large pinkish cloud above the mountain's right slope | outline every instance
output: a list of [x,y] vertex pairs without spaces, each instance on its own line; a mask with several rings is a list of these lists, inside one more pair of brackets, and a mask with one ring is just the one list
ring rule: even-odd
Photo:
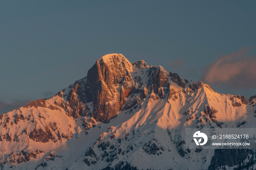
[[249,47],[219,56],[217,61],[204,67],[206,83],[226,85],[230,88],[256,87],[256,56],[246,56]]

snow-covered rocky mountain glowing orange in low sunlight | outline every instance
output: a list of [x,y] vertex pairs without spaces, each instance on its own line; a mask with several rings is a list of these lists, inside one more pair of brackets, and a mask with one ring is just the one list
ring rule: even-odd
[[255,127],[255,98],[108,54],[55,96],[0,115],[0,167],[235,169],[254,151],[189,150],[184,131]]

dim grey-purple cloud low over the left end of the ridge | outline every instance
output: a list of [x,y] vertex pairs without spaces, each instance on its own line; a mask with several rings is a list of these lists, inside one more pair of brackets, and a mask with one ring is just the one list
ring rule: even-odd
[[4,101],[0,100],[0,114],[10,112],[10,111],[12,111],[16,108],[22,107],[30,102],[31,102],[30,99],[19,100],[19,101],[15,101],[13,103],[5,103]]

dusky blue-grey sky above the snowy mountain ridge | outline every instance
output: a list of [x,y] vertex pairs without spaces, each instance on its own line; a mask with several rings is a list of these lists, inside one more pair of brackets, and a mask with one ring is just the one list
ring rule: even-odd
[[233,0],[0,1],[0,113],[53,96],[109,53],[249,98],[256,94],[255,6]]

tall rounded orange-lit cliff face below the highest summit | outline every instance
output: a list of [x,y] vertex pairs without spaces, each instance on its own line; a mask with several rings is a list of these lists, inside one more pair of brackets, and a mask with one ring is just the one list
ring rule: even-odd
[[117,115],[134,87],[132,64],[121,54],[105,55],[88,71],[93,117],[106,122]]

